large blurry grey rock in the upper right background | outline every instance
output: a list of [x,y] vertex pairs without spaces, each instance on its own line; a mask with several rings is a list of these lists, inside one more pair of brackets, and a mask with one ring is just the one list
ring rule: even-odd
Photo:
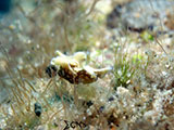
[[109,28],[123,26],[134,31],[147,28],[158,31],[174,30],[169,24],[173,12],[172,0],[133,0],[116,5],[108,15],[107,25]]

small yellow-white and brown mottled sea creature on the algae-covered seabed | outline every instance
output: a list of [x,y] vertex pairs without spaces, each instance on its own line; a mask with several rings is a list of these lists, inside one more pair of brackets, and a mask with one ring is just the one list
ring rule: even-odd
[[83,63],[87,58],[85,52],[76,52],[71,56],[67,56],[60,51],[57,51],[55,53],[58,56],[53,57],[50,64],[57,67],[61,67],[61,72],[64,69],[66,75],[61,74],[61,76],[64,78],[72,77],[70,75],[73,75],[74,78],[80,77],[84,82],[92,82],[97,80],[98,77],[102,78],[108,72],[112,70],[111,67],[96,69],[88,65],[84,65]]

